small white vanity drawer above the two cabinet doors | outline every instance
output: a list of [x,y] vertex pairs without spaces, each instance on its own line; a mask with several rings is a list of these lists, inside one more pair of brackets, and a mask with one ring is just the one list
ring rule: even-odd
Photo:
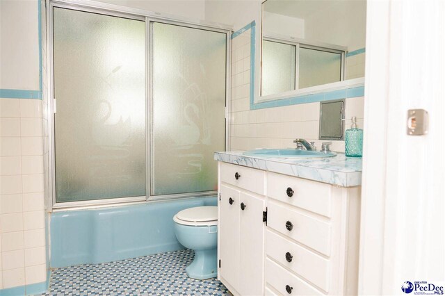
[[[230,163],[220,163],[220,180],[249,190],[259,195],[264,195],[264,176],[262,170],[232,165]],[[238,179],[236,179],[238,178]]]

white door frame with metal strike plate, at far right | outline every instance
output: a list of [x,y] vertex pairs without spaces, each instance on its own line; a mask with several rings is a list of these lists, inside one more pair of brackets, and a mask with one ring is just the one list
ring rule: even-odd
[[[444,15],[443,0],[367,2],[359,295],[445,285]],[[428,134],[407,135],[418,108]]]

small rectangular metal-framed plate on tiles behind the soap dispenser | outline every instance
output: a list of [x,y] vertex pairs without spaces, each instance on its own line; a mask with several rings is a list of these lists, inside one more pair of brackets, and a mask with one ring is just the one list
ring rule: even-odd
[[344,99],[320,103],[319,140],[343,140],[344,108]]

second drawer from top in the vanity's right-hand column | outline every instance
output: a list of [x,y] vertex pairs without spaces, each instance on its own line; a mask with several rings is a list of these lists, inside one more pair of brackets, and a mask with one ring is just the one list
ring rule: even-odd
[[268,227],[301,242],[303,245],[330,256],[330,223],[271,201],[268,204],[267,224]]

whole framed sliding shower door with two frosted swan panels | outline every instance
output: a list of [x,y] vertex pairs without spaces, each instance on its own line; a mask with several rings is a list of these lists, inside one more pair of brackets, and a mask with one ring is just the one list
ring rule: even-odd
[[51,1],[53,208],[216,195],[230,33]]

